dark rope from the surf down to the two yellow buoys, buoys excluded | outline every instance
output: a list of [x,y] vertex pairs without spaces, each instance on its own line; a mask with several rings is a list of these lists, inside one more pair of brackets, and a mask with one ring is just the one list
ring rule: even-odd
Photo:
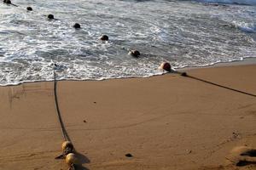
[[62,132],[63,139],[65,141],[70,141],[70,139],[68,137],[68,134],[67,134],[67,130],[66,130],[66,128],[64,126],[64,123],[62,121],[62,118],[61,118],[61,111],[60,111],[60,108],[59,108],[58,97],[57,97],[57,80],[56,80],[55,71],[54,71],[54,94],[55,94],[55,108],[56,108],[56,112],[57,112],[59,122],[61,124],[61,132]]

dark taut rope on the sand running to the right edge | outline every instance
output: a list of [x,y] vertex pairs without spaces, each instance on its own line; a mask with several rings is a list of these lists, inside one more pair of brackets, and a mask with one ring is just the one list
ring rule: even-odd
[[218,86],[219,88],[225,88],[225,89],[228,89],[228,90],[231,90],[231,91],[240,93],[240,94],[246,94],[246,95],[253,96],[254,98],[256,98],[256,95],[255,95],[255,94],[249,94],[249,93],[247,93],[247,92],[244,92],[244,91],[241,91],[241,90],[237,90],[237,89],[235,89],[235,88],[229,88],[229,87],[226,87],[226,86],[223,86],[223,85],[214,83],[214,82],[209,82],[209,81],[207,81],[207,80],[203,80],[203,79],[198,78],[198,77],[189,76],[186,72],[178,72],[178,71],[175,71],[175,72],[178,73],[178,74],[180,74],[180,75],[183,76],[183,77],[189,77],[189,78],[195,79],[195,80],[197,80],[197,81],[206,82],[206,83],[208,83],[208,84],[212,84],[212,85],[214,85],[214,86]]

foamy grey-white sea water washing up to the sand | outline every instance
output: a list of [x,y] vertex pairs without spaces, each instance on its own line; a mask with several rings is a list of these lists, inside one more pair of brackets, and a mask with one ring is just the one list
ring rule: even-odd
[[102,80],[163,74],[162,61],[182,68],[256,57],[256,0],[12,3],[0,3],[0,85],[52,80],[54,64],[58,79]]

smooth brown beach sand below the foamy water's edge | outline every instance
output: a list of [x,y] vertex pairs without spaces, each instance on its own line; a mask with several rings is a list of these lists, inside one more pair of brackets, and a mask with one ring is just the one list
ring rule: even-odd
[[[187,71],[256,94],[256,65]],[[256,98],[177,74],[58,82],[80,169],[256,169],[235,167],[230,150],[256,148]],[[53,82],[0,88],[0,169],[67,169]],[[132,157],[126,157],[130,153]]]

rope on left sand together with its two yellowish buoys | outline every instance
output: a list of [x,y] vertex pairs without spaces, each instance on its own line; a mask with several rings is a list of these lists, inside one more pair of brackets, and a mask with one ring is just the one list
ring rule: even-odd
[[68,137],[66,128],[64,126],[64,123],[62,121],[61,117],[61,111],[58,104],[58,98],[57,98],[57,80],[56,80],[56,73],[54,70],[54,96],[55,96],[55,109],[58,116],[58,120],[61,124],[61,133],[64,139],[64,142],[61,144],[62,153],[60,156],[56,156],[55,159],[65,159],[67,165],[69,166],[68,170],[75,170],[75,165],[79,164],[79,159],[77,158],[75,154],[75,149],[73,147],[73,144],[71,140]]

